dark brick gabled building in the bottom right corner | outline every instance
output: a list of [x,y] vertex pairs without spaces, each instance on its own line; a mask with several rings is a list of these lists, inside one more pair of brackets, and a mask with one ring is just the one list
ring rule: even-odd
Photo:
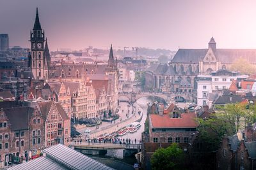
[[[253,126],[244,133],[225,136],[216,153],[216,169],[256,169],[256,141]],[[243,138],[244,137],[244,138]]]

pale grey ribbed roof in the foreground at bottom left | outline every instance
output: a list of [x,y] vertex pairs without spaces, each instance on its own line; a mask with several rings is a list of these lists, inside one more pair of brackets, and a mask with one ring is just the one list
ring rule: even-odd
[[64,145],[55,145],[46,148],[44,153],[51,160],[55,160],[56,164],[63,164],[64,167],[70,169],[112,169],[96,160],[93,160],[80,152],[76,152]]

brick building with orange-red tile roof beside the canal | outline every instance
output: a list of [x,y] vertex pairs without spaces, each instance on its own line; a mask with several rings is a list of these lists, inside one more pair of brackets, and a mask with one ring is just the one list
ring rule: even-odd
[[195,140],[197,127],[196,113],[181,113],[175,104],[170,104],[164,110],[163,104],[154,103],[149,106],[148,113],[148,123],[145,124],[141,146],[141,162],[144,169],[150,169],[152,154],[162,146],[179,143],[184,152],[189,151],[189,144]]

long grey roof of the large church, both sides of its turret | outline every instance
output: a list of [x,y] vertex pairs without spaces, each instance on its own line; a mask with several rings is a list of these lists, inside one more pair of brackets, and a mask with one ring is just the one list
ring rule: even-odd
[[[174,55],[173,63],[198,63],[202,61],[208,49],[179,49]],[[216,49],[216,59],[222,63],[232,63],[244,57],[250,63],[256,63],[256,49]]]

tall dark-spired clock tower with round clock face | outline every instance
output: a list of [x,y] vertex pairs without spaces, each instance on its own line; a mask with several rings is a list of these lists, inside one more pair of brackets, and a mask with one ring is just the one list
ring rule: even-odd
[[[42,31],[41,24],[38,17],[38,8],[36,8],[36,19],[33,30],[30,31],[30,41],[31,41],[31,71],[33,73],[35,80],[48,79],[48,68],[45,67],[45,62],[47,59],[44,55],[44,31]],[[46,64],[47,66],[47,64]],[[47,74],[45,74],[47,73]]]

